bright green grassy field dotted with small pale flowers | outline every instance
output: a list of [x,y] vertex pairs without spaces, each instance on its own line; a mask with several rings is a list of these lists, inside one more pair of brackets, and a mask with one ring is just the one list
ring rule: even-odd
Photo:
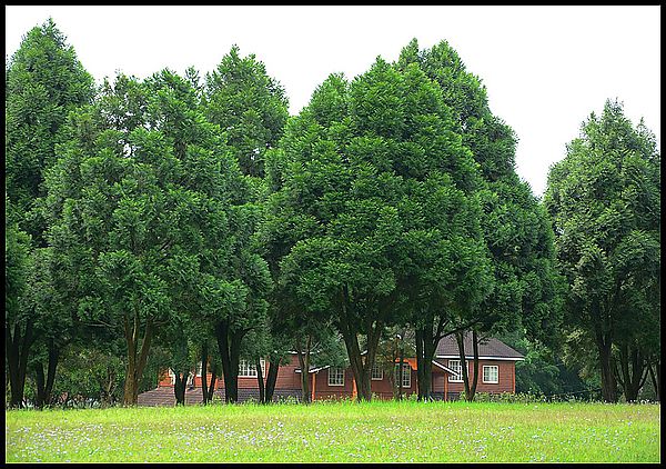
[[658,405],[10,410],[6,461],[660,462]]

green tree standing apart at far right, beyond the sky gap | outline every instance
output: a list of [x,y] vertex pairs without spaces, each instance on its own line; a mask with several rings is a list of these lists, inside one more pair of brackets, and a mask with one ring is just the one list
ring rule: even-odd
[[634,400],[659,331],[660,154],[654,134],[607,100],[551,168],[544,201],[571,286],[568,322],[596,345],[604,400],[618,399],[618,378]]

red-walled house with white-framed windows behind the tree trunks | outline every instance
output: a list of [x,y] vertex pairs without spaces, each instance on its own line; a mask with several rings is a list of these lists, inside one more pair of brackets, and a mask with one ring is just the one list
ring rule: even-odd
[[[470,379],[474,377],[473,348],[471,335],[465,338],[465,357],[467,360],[467,373]],[[517,361],[524,360],[522,353],[512,349],[504,342],[490,338],[478,343],[478,382],[477,392],[502,393],[515,392]],[[266,376],[266,362],[261,360],[262,376]],[[432,366],[432,395],[435,399],[455,400],[464,390],[462,366],[458,347],[453,336],[443,338],[437,345],[435,358]],[[287,365],[280,367],[275,382],[274,400],[294,398],[301,399],[301,367],[296,352],[291,353]],[[239,401],[259,398],[258,370],[253,363],[241,360],[239,366]],[[311,399],[340,399],[354,398],[356,396],[356,383],[353,379],[351,368],[343,367],[311,367],[307,371],[311,389]],[[408,396],[416,392],[416,359],[404,358],[402,373],[400,365],[395,365],[395,382],[402,379],[403,395]],[[209,373],[206,382],[210,383]],[[139,396],[140,406],[174,405],[173,393],[174,375],[171,370],[163,373],[158,388]],[[201,367],[199,372],[191,377],[191,382],[185,390],[185,403],[199,403],[202,401],[201,393],[202,377]],[[379,366],[372,370],[371,390],[376,398],[392,399],[393,386],[387,373]],[[218,377],[215,382],[215,397],[224,399],[224,380]]]

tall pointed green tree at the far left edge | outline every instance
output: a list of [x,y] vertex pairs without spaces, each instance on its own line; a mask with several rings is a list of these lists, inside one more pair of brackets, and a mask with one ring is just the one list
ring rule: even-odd
[[[63,297],[58,289],[58,277],[47,275],[54,271],[53,258],[49,252],[40,252],[47,247],[41,210],[46,193],[43,180],[46,171],[58,158],[57,146],[67,139],[63,128],[68,113],[91,101],[94,82],[77,59],[73,47],[49,19],[23,37],[6,64],[4,84],[6,194],[18,228],[30,234],[31,246],[36,249],[31,255],[33,275],[28,277],[24,302],[33,306],[26,306],[26,315],[33,327],[34,350],[44,350],[29,358],[37,372],[37,405],[41,406],[52,388],[61,349],[73,333],[71,311],[57,307],[58,300],[50,302],[51,298]],[[44,291],[53,295],[47,296]],[[32,348],[28,342],[22,343],[18,336],[10,342],[12,347],[21,348],[20,353],[30,357]],[[19,351],[11,353],[16,356]],[[16,372],[13,366],[10,368]]]

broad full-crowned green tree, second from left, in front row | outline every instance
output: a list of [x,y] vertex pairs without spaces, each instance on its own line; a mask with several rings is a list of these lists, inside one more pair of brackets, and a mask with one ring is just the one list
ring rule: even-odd
[[72,139],[49,178],[52,243],[91,265],[80,312],[125,337],[125,405],[137,402],[155,332],[199,298],[203,276],[196,291],[192,278],[210,239],[218,255],[230,247],[225,210],[240,173],[234,179],[219,128],[190,109],[191,88],[168,70],[105,82],[72,117]]

